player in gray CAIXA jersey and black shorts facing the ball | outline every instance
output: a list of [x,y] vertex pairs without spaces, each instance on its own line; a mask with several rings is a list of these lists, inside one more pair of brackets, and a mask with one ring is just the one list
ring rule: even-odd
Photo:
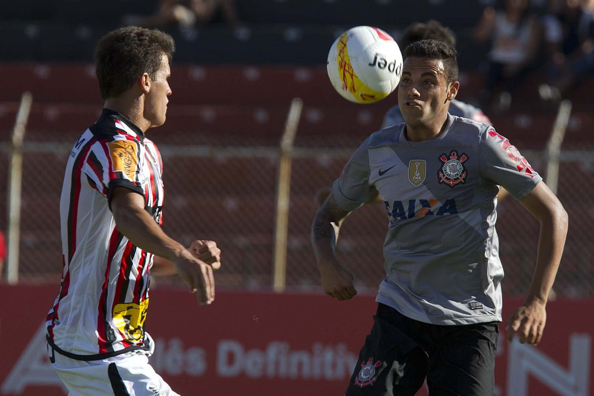
[[503,267],[498,185],[541,223],[536,268],[508,340],[538,344],[567,233],[567,213],[541,176],[492,126],[448,113],[460,87],[456,50],[437,40],[405,51],[405,123],[381,129],[345,165],[316,214],[312,243],[324,292],[355,296],[334,246],[342,221],[378,192],[386,204],[386,278],[346,395],[492,396]]

